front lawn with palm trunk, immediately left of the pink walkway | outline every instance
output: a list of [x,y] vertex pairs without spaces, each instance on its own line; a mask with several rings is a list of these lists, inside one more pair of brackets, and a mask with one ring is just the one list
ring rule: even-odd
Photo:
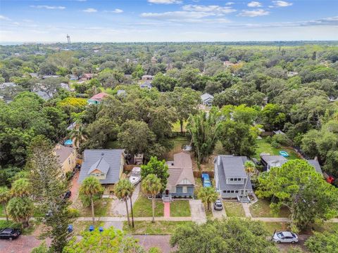
[[[151,200],[148,200],[144,195],[139,195],[139,198],[136,200],[132,206],[134,217],[151,217],[153,212],[151,209]],[[155,207],[155,216],[163,216],[163,202],[161,200],[156,200]]]

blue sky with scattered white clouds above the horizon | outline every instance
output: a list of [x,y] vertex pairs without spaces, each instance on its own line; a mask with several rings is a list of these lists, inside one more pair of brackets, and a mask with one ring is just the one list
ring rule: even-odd
[[0,41],[338,40],[338,0],[0,0]]

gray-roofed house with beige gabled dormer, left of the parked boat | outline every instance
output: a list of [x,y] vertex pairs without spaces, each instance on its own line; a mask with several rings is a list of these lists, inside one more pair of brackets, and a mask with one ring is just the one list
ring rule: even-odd
[[125,165],[122,149],[84,150],[79,183],[88,176],[96,176],[106,190],[111,192],[120,180]]

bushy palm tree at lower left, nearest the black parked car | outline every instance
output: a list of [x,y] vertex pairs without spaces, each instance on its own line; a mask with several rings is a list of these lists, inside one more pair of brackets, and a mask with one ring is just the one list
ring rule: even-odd
[[33,213],[33,203],[29,197],[13,197],[9,200],[8,214],[15,222],[23,223],[23,226],[30,226],[30,217]]

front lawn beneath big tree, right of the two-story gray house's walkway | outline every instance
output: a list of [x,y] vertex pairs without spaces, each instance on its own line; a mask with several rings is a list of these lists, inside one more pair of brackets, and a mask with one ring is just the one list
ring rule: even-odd
[[278,214],[274,214],[270,209],[270,201],[259,199],[258,202],[250,206],[250,212],[253,217],[289,217],[289,210],[286,207],[280,209]]

